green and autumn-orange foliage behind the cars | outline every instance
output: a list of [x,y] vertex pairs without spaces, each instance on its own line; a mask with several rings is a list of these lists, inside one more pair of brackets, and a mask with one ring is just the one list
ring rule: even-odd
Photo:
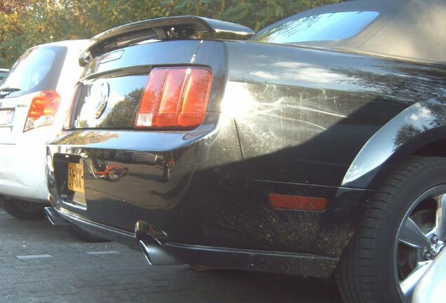
[[104,30],[149,18],[201,15],[255,31],[289,15],[342,0],[0,0],[0,67],[27,48],[89,39]]

